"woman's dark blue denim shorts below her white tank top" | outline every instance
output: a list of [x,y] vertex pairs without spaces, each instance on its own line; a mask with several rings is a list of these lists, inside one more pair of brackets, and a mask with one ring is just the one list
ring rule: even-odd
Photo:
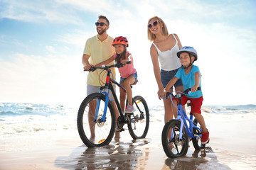
[[[178,72],[178,69],[174,69],[171,71],[165,71],[164,69],[161,69],[161,82],[164,86],[164,88],[167,86],[169,81],[174,78],[175,74]],[[178,79],[176,83],[174,84],[175,87],[177,86],[183,86],[181,79]],[[173,89],[173,87],[171,87]]]

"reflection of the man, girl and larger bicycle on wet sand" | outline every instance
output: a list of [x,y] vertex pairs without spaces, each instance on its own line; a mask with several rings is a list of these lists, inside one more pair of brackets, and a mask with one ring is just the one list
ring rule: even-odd
[[[146,165],[149,152],[142,151],[137,147],[146,145],[147,140],[137,140],[132,142],[110,143],[105,147],[85,147],[82,154],[70,155],[68,162],[55,162],[59,166],[67,169],[135,169],[137,166]],[[146,149],[145,149],[146,150]],[[72,159],[73,157],[73,159]],[[63,158],[62,158],[63,159]],[[70,162],[73,164],[71,167]],[[67,163],[67,166],[64,164]]]

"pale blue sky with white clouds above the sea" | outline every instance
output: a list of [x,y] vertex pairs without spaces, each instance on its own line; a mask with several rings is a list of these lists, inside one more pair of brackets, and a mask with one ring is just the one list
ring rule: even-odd
[[139,79],[133,94],[149,106],[163,103],[146,32],[153,16],[197,50],[203,105],[256,104],[255,8],[254,0],[0,0],[0,102],[80,105],[82,52],[103,15],[108,35],[127,37]]

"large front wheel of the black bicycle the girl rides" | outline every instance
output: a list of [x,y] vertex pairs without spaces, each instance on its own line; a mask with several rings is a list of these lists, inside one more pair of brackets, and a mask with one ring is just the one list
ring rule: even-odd
[[87,147],[108,145],[114,136],[115,114],[109,102],[105,111],[106,96],[95,93],[82,101],[78,111],[78,132]]

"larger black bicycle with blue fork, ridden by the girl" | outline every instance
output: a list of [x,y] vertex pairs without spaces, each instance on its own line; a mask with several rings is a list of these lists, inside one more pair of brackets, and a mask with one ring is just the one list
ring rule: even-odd
[[[131,62],[127,62],[129,64]],[[122,67],[124,64],[112,64],[104,67],[91,67],[89,71],[96,69],[107,71],[105,86],[100,87],[99,93],[88,95],[81,103],[78,111],[78,132],[82,142],[87,147],[102,147],[108,145],[114,136],[115,126],[123,131],[124,124],[127,124],[129,134],[134,140],[146,137],[149,130],[149,108],[142,96],[134,96],[132,103],[134,113],[123,113],[117,95],[114,92],[112,83],[117,84],[122,90],[125,89],[110,77],[112,67]],[[106,92],[105,92],[105,91]],[[110,102],[110,91],[114,96],[119,117],[114,112],[114,106]],[[93,137],[92,137],[93,136]],[[93,140],[92,140],[93,138]]]

